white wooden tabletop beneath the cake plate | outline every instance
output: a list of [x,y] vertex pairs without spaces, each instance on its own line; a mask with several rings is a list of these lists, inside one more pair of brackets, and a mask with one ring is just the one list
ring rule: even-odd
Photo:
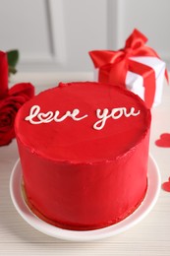
[[[17,82],[29,81],[36,92],[55,86],[58,81],[87,81],[92,74],[18,74]],[[152,110],[150,152],[156,160],[162,182],[170,176],[170,148],[154,145],[159,135],[170,133],[170,87],[165,85],[161,105]],[[9,191],[12,168],[18,160],[14,140],[9,146],[0,147],[0,256],[5,255],[170,255],[170,193],[160,191],[152,211],[140,224],[119,235],[92,242],[68,242],[41,233],[27,224],[16,211]]]

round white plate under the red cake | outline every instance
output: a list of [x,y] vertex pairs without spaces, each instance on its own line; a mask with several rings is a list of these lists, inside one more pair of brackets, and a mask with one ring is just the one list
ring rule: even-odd
[[89,231],[75,231],[56,227],[38,219],[28,208],[22,195],[22,167],[18,160],[13,168],[10,179],[11,198],[19,214],[35,229],[47,235],[70,241],[91,241],[106,238],[123,232],[135,224],[138,224],[150,212],[154,206],[160,190],[160,174],[158,166],[152,157],[148,160],[148,188],[141,206],[128,218],[118,224]]

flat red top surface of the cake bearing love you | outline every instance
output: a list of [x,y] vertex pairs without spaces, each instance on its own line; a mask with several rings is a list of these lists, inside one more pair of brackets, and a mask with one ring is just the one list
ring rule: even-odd
[[136,147],[150,126],[142,99],[117,86],[60,83],[19,110],[15,130],[29,151],[50,160],[113,160]]

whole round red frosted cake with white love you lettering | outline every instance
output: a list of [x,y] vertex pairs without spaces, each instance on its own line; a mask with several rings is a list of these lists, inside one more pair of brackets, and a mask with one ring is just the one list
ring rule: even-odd
[[150,111],[117,86],[60,83],[30,99],[15,129],[28,206],[62,228],[116,224],[147,189]]

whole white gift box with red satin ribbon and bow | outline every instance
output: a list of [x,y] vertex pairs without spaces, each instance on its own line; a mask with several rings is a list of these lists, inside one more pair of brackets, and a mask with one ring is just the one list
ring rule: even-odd
[[161,102],[164,77],[168,81],[168,73],[165,62],[145,45],[146,41],[145,35],[135,30],[124,48],[94,50],[89,55],[95,67],[95,81],[126,87],[151,108]]

